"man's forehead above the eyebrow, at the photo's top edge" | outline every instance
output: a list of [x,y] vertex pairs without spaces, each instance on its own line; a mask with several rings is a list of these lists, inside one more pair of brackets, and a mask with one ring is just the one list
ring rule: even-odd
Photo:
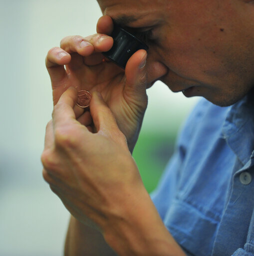
[[102,13],[118,23],[130,25],[142,18],[152,18],[165,11],[167,0],[97,0]]

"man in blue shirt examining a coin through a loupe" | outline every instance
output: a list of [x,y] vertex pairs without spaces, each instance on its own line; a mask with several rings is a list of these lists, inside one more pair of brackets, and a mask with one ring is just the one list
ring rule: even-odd
[[[98,2],[97,34],[65,37],[46,58],[54,110],[41,159],[72,214],[65,254],[254,255],[254,1]],[[100,53],[112,19],[149,45],[125,70]],[[158,79],[207,100],[152,201],[131,152]],[[79,89],[93,93],[90,112],[75,105]]]

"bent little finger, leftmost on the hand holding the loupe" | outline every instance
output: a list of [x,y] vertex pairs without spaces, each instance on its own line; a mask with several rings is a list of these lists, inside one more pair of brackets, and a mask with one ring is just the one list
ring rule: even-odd
[[59,47],[53,47],[48,51],[45,63],[52,83],[63,79],[66,75],[64,65],[70,59],[70,54]]

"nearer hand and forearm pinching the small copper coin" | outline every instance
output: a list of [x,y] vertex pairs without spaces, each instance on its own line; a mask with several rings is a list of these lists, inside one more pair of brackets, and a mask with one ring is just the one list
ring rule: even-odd
[[[55,105],[41,156],[44,179],[80,222],[71,224],[69,229],[66,246],[73,251],[69,255],[75,255],[76,249],[89,249],[82,239],[72,238],[73,233],[75,238],[80,233],[86,237],[88,229],[81,223],[89,220],[118,255],[185,255],[162,222],[126,138],[102,97],[97,93],[92,96],[92,133],[76,120],[76,94],[75,89],[67,89]],[[91,229],[88,231],[89,235],[94,234]],[[103,248],[103,239],[100,242],[99,247]]]

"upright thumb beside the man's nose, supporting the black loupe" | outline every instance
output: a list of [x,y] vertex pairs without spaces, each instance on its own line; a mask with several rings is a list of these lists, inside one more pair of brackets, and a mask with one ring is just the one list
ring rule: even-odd
[[146,96],[147,86],[147,52],[144,49],[136,51],[128,60],[125,68],[126,83],[125,90],[131,96]]

